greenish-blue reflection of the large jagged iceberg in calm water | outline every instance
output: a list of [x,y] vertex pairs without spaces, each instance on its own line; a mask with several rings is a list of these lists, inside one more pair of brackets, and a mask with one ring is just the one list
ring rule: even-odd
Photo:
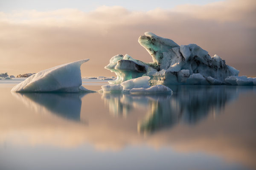
[[138,122],[138,132],[153,132],[178,122],[195,124],[209,113],[219,113],[240,91],[238,86],[171,86],[173,95],[102,94],[114,115],[126,116],[138,106],[148,107],[146,117]]

